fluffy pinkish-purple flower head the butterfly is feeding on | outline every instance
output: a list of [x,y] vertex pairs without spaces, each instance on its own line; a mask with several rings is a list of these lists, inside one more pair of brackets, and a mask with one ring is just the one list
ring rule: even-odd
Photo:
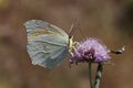
[[75,54],[70,63],[95,62],[101,63],[110,59],[109,50],[98,38],[88,38],[75,46]]

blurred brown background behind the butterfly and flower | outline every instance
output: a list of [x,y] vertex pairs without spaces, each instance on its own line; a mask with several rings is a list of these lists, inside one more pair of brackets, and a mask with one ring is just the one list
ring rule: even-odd
[[[74,40],[98,37],[110,50],[126,45],[105,65],[101,88],[133,88],[133,0],[0,0],[0,88],[90,88],[88,64],[69,58],[53,69],[31,65],[23,23],[45,20],[69,32],[79,23]],[[93,74],[95,65],[93,66]]]

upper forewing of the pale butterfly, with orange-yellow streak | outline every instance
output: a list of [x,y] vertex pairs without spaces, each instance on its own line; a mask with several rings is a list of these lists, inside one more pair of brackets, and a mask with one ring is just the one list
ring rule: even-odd
[[24,23],[24,26],[28,33],[33,33],[37,31],[45,33],[45,31],[47,32],[51,31],[52,33],[58,33],[64,37],[68,37],[68,34],[64,31],[62,31],[60,28],[42,20],[29,20]]

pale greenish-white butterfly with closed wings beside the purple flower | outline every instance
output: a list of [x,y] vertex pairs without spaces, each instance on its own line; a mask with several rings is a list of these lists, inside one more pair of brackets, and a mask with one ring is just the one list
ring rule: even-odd
[[47,68],[59,66],[74,47],[73,37],[45,21],[29,20],[24,26],[28,36],[27,50],[33,65]]

